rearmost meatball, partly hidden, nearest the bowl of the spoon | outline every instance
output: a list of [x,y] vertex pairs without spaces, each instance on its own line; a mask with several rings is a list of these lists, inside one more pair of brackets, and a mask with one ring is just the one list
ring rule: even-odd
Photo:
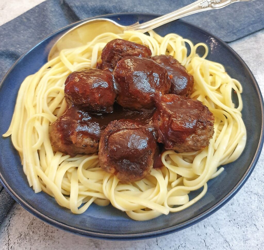
[[102,50],[102,63],[97,68],[113,71],[116,63],[128,56],[150,57],[151,50],[141,44],[122,39],[114,39],[107,43]]

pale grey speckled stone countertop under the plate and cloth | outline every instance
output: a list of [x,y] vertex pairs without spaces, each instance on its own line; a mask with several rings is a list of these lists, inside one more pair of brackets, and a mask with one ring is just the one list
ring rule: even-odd
[[[0,25],[44,0],[1,0]],[[242,57],[264,93],[264,30],[229,45]],[[262,44],[262,46],[260,46]],[[130,242],[73,235],[37,219],[15,204],[0,226],[0,249],[264,249],[264,151],[246,184],[207,219],[167,236]]]

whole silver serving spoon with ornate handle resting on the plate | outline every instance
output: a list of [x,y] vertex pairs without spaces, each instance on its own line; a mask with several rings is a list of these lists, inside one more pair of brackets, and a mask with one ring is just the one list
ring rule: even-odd
[[247,1],[252,0],[198,0],[166,15],[154,18],[142,24],[136,22],[129,26],[120,25],[107,18],[89,19],[68,30],[56,41],[50,50],[48,61],[58,56],[61,50],[85,45],[96,36],[105,32],[121,34],[124,33],[124,31],[138,31],[140,33],[145,33],[181,17],[206,10],[220,9],[235,2]]

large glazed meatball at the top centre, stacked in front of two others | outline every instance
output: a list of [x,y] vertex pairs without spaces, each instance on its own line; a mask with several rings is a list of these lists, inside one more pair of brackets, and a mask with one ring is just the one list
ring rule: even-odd
[[168,94],[171,83],[164,67],[151,59],[126,57],[114,70],[117,103],[131,110],[150,109],[156,95]]

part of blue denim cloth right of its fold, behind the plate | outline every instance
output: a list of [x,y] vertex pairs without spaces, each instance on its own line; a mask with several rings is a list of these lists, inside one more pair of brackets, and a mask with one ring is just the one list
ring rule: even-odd
[[[206,0],[207,2],[213,2]],[[121,12],[144,12],[164,15],[194,0],[64,0],[83,20],[88,17]],[[210,10],[181,18],[206,29],[224,41],[233,41],[264,28],[264,1],[234,3],[219,10]]]

